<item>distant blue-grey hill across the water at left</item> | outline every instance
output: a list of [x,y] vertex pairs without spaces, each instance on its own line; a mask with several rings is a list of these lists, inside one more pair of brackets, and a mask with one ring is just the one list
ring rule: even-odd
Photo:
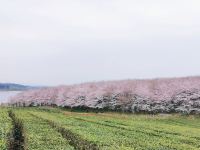
[[24,91],[28,89],[33,89],[34,87],[25,86],[20,84],[14,83],[0,83],[0,90],[1,91]]

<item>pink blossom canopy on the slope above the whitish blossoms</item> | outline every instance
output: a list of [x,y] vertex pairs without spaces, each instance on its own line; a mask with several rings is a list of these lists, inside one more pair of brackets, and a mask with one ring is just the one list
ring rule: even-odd
[[103,81],[29,90],[11,98],[10,102],[70,105],[76,103],[78,97],[84,96],[86,103],[92,104],[97,97],[119,93],[136,94],[155,101],[169,101],[179,92],[194,89],[200,89],[200,77]]

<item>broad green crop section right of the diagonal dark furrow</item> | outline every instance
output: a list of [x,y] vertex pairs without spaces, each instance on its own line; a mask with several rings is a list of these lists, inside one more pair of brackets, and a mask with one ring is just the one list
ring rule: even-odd
[[200,149],[200,119],[190,116],[30,111],[96,143],[100,149]]

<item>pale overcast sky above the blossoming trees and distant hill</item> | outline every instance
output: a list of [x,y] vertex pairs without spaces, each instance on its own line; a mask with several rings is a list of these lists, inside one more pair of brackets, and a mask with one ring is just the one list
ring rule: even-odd
[[0,0],[0,82],[200,75],[199,0]]

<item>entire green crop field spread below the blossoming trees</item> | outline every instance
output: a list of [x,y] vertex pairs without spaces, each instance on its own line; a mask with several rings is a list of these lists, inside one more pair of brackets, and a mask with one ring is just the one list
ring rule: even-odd
[[[199,150],[200,118],[180,115],[80,113],[15,108],[28,150]],[[12,120],[0,110],[0,149],[8,149]]]

